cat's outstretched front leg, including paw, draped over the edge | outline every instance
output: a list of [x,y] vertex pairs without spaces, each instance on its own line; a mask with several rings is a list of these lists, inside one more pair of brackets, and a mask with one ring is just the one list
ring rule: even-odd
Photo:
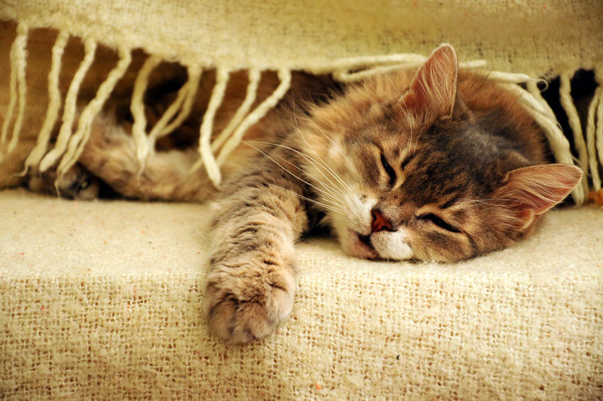
[[211,331],[236,344],[272,334],[291,312],[294,243],[308,224],[302,200],[289,192],[299,188],[267,185],[262,175],[243,177],[214,217],[204,310]]

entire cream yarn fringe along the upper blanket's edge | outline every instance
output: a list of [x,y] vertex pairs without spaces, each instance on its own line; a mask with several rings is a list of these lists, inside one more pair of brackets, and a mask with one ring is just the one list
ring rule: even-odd
[[[10,51],[11,75],[9,82],[9,104],[4,114],[4,122],[0,132],[0,150],[10,141],[6,147],[6,153],[16,148],[20,138],[23,118],[26,112],[26,66],[27,66],[27,40],[29,26],[26,23],[18,23],[16,38],[13,40]],[[59,31],[54,45],[52,46],[52,60],[48,72],[48,109],[45,113],[42,128],[38,134],[35,146],[31,149],[25,160],[23,173],[33,167],[38,167],[41,172],[57,165],[59,176],[77,163],[82,154],[89,136],[91,135],[92,123],[106,103],[114,90],[118,80],[123,77],[131,64],[131,49],[118,48],[118,62],[104,82],[99,84],[96,95],[92,101],[81,108],[77,130],[73,131],[75,120],[78,118],[77,96],[79,88],[94,61],[97,43],[92,38],[84,38],[84,57],[70,82],[65,96],[61,125],[54,146],[50,148],[52,129],[58,119],[62,106],[59,89],[60,71],[62,68],[62,55],[65,52],[70,33]],[[427,57],[417,54],[394,54],[377,55],[365,57],[351,57],[333,60],[325,65],[304,68],[306,72],[314,74],[331,74],[340,82],[354,82],[365,79],[372,75],[399,70],[402,68],[417,67],[425,62]],[[133,115],[132,136],[136,146],[136,157],[140,161],[140,172],[145,169],[145,161],[155,151],[155,143],[163,136],[174,131],[184,120],[187,119],[194,106],[196,94],[199,89],[201,72],[206,66],[188,65],[187,82],[177,92],[176,99],[167,107],[160,119],[150,131],[146,132],[147,119],[145,116],[144,97],[149,86],[150,74],[155,70],[162,58],[150,55],[138,71],[133,85],[131,97],[131,113]],[[474,60],[461,62],[461,68],[482,69],[486,65],[485,60]],[[258,96],[258,87],[262,77],[260,68],[248,69],[248,85],[245,99],[238,106],[235,114],[226,124],[223,130],[214,136],[214,119],[216,112],[222,104],[226,94],[226,87],[230,78],[231,70],[227,67],[216,67],[216,83],[211,93],[211,98],[205,111],[203,121],[199,127],[199,160],[192,170],[204,167],[211,182],[218,187],[221,183],[221,166],[228,160],[233,150],[237,148],[248,129],[260,121],[268,111],[275,107],[284,97],[291,86],[292,69],[282,67],[277,70],[280,83],[277,88],[262,101],[255,109],[252,106]],[[584,203],[589,197],[589,177],[592,180],[592,189],[602,189],[600,169],[603,164],[603,67],[595,68],[595,78],[599,87],[594,93],[592,102],[588,108],[587,121],[584,131],[580,123],[574,101],[571,97],[570,79],[574,71],[564,71],[560,75],[560,101],[568,115],[570,128],[572,128],[573,141],[577,151],[577,160],[572,158],[570,142],[563,135],[558,121],[538,89],[541,79],[534,79],[525,74],[511,74],[507,72],[489,71],[487,75],[494,82],[502,84],[509,91],[517,94],[519,101],[533,116],[533,119],[543,129],[555,160],[559,163],[576,163],[585,172],[583,180],[572,192],[576,204]],[[519,84],[525,84],[523,89]],[[11,124],[14,125],[11,131]],[[9,136],[9,131],[11,135]],[[213,139],[212,139],[213,138]],[[0,153],[0,161],[3,154]]]

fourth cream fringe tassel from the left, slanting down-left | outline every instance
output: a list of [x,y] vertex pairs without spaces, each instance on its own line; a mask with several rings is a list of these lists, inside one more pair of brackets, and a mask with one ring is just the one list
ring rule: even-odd
[[69,170],[70,167],[77,162],[79,155],[82,155],[84,146],[90,137],[92,121],[94,121],[96,114],[101,111],[106,99],[108,99],[111,95],[111,92],[113,92],[117,81],[123,77],[123,74],[126,73],[131,60],[132,55],[130,50],[127,48],[119,48],[119,61],[117,62],[116,67],[109,72],[109,75],[107,75],[105,81],[96,91],[96,97],[90,101],[90,103],[82,111],[82,114],[79,116],[77,131],[72,135],[69,146],[67,147],[67,152],[65,152],[65,155],[63,155],[59,163],[59,176],[65,174],[65,172],[67,172],[67,170]]

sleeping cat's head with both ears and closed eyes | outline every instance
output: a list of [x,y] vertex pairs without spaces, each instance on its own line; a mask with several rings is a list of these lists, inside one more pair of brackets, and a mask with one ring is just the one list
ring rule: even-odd
[[515,243],[577,185],[545,164],[517,99],[458,73],[443,45],[414,73],[382,75],[313,111],[301,147],[343,250],[360,258],[461,260]]

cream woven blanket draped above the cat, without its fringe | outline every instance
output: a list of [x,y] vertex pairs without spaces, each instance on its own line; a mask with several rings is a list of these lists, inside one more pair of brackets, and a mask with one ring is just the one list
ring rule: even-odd
[[0,18],[204,67],[316,70],[340,57],[419,53],[442,42],[494,70],[552,75],[601,65],[592,1],[4,0]]

